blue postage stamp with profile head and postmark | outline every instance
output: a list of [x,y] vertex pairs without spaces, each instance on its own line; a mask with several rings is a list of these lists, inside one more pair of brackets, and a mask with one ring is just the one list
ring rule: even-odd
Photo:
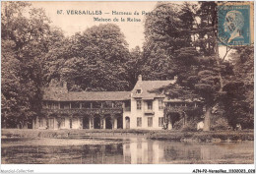
[[253,42],[253,12],[250,2],[223,3],[218,6],[219,44],[249,45]]

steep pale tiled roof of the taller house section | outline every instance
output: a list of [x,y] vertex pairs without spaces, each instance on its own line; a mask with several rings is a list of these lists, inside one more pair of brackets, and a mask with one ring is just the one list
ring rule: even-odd
[[[136,86],[132,90],[132,97],[141,97],[142,99],[154,99],[155,97],[165,97],[162,93],[153,92],[160,87],[167,87],[170,84],[174,84],[172,81],[138,81]],[[136,93],[137,89],[141,89],[141,93]]]

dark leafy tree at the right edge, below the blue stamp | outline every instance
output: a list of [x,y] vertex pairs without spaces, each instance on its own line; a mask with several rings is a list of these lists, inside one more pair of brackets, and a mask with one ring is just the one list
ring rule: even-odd
[[224,85],[224,114],[235,128],[253,128],[254,123],[254,52],[253,46],[234,48],[232,53],[233,76]]

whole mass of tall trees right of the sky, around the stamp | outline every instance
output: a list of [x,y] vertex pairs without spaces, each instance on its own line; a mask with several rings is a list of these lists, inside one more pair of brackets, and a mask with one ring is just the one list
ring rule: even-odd
[[[225,60],[226,54],[220,57],[216,2],[182,5],[159,3],[153,12],[158,11],[161,12],[159,16],[149,16],[145,23],[144,59],[147,57],[147,60],[144,72],[149,70],[148,77],[166,80],[178,75],[177,84],[180,87],[171,85],[165,91],[169,97],[200,98],[206,108],[205,131],[210,130],[212,111],[217,105],[225,105],[221,109],[224,109],[223,114],[230,124],[246,126],[249,121],[253,123],[253,72],[239,73],[242,66],[252,70],[253,61],[246,62],[245,58],[251,51],[237,50],[243,57],[239,60],[234,55],[231,55],[233,61]],[[163,67],[161,61],[164,62]],[[242,79],[246,82],[240,83]],[[239,87],[235,90],[236,93],[239,90],[238,95],[228,87],[230,81],[233,87]],[[250,103],[247,104],[250,109],[246,108],[245,100]]]

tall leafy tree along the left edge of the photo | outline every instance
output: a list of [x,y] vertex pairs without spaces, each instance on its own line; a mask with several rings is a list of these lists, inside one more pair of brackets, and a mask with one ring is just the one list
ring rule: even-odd
[[[9,127],[24,126],[40,110],[40,65],[49,20],[28,2],[4,2],[2,9],[2,121]],[[24,16],[26,10],[29,17]]]

